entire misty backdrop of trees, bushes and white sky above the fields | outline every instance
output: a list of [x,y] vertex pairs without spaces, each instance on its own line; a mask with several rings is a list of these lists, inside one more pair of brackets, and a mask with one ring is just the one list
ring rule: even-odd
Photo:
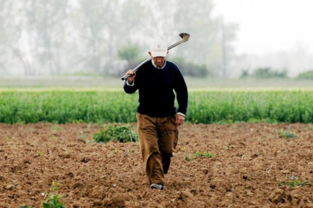
[[0,0],[0,76],[122,76],[162,38],[195,78],[313,70],[309,0]]

